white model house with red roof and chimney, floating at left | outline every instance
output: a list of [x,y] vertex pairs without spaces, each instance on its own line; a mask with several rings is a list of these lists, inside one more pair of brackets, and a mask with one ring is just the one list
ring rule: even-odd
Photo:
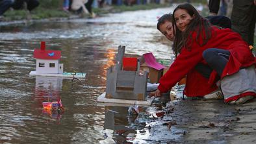
[[41,42],[40,49],[34,49],[36,58],[36,73],[63,73],[60,62],[61,51],[45,50],[45,42]]

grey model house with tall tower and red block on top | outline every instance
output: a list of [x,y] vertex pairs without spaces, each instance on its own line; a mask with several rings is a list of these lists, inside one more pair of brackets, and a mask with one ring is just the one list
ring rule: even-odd
[[145,101],[147,90],[147,73],[140,74],[137,58],[125,58],[125,47],[118,47],[116,66],[107,69],[108,99],[129,99]]

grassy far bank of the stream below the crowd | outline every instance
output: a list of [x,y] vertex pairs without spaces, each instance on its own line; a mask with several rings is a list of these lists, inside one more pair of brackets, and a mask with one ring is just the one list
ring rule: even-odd
[[[97,16],[108,13],[117,13],[124,11],[134,11],[134,10],[149,10],[153,8],[164,8],[169,7],[170,4],[156,4],[150,3],[147,5],[133,5],[133,6],[104,6],[103,8],[93,8],[93,12]],[[40,20],[40,19],[72,19],[72,18],[90,18],[89,15],[78,15],[75,12],[66,12],[61,10],[61,8],[47,8],[38,6],[31,13],[27,10],[8,10],[5,12],[4,17],[1,18],[2,22],[10,21],[25,21],[25,20]]]

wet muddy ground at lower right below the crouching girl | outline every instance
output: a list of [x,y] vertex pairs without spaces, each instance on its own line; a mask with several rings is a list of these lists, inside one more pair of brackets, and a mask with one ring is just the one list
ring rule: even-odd
[[183,138],[173,142],[255,143],[255,110],[256,99],[242,105],[224,104],[222,100],[181,100],[170,115],[173,128],[184,130]]

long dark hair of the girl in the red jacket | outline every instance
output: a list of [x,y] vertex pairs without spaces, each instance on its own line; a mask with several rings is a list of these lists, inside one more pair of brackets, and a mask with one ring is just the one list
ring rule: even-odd
[[[177,29],[176,21],[174,18],[174,13],[176,10],[183,9],[188,12],[188,14],[193,17],[190,21],[188,26],[186,27],[185,32],[181,32],[181,30]],[[211,38],[211,24],[209,21],[202,16],[199,15],[198,10],[194,8],[194,6],[185,3],[177,6],[173,11],[173,27],[174,30],[174,42],[173,42],[173,53],[177,57],[178,53],[181,53],[181,49],[185,47],[186,49],[190,50],[192,46],[192,32],[196,32],[196,43],[198,45],[203,46],[205,45],[208,40]],[[201,40],[203,43],[199,43]]]

